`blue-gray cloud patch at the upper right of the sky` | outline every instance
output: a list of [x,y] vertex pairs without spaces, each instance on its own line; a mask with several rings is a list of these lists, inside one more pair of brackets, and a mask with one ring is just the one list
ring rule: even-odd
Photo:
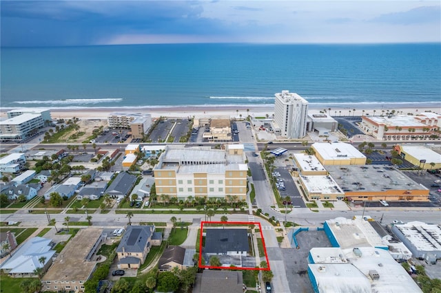
[[418,23],[440,23],[440,6],[422,6],[404,12],[382,14],[371,22],[413,25]]

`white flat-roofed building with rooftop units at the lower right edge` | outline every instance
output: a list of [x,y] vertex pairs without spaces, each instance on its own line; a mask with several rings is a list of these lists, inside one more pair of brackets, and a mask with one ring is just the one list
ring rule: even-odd
[[440,226],[411,221],[393,225],[392,232],[411,250],[413,257],[427,261],[441,258]]

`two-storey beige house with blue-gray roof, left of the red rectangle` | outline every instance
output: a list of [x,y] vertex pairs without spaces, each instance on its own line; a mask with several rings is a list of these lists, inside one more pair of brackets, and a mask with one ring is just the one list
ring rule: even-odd
[[145,261],[152,245],[161,245],[161,242],[152,241],[154,226],[127,226],[116,253],[118,254],[118,268],[138,269]]

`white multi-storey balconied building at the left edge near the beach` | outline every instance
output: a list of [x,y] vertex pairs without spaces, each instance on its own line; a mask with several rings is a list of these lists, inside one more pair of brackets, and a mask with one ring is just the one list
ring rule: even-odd
[[23,113],[0,122],[0,141],[21,142],[44,126],[41,114]]

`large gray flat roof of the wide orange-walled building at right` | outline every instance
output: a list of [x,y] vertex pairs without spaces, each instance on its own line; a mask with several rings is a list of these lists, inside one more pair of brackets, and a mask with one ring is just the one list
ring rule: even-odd
[[427,190],[402,172],[387,165],[327,166],[326,169],[344,192]]

